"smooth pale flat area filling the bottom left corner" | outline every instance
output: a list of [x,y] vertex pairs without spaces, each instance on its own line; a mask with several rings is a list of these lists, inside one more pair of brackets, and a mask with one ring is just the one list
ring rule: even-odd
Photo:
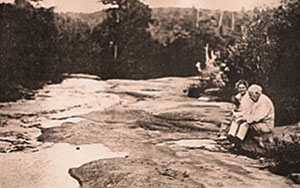
[[123,158],[102,144],[74,146],[54,144],[34,153],[0,154],[1,188],[78,188],[68,171],[84,163],[107,158]]

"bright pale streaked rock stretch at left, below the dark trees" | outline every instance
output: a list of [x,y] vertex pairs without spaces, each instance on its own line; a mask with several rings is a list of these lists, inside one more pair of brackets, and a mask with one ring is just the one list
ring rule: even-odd
[[46,85],[34,91],[31,100],[1,103],[0,152],[34,149],[41,145],[41,130],[63,123],[77,123],[82,114],[103,110],[119,102],[119,97],[102,93],[103,81],[76,75],[61,84]]

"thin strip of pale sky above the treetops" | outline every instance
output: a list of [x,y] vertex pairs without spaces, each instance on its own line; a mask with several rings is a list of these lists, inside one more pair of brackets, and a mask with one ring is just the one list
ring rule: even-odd
[[[256,6],[274,6],[280,0],[141,0],[150,7],[196,7],[220,10],[239,11],[244,7],[246,10]],[[0,0],[0,2],[14,2],[14,0]],[[98,0],[43,0],[46,7],[55,6],[57,12],[84,12],[99,11],[105,6]]]

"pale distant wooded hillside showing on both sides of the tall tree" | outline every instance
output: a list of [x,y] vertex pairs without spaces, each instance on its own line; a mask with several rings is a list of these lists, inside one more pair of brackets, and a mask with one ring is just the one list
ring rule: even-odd
[[[219,10],[198,9],[198,22],[200,25],[211,25],[217,27],[221,15]],[[244,19],[252,14],[251,11],[247,12],[223,12],[222,24],[223,31],[226,32],[232,28],[232,17],[234,15],[234,22],[237,32],[240,32],[240,25]],[[91,28],[100,24],[105,18],[106,13],[104,10],[94,13],[59,13],[63,18],[71,18],[83,23],[87,23]],[[167,40],[166,35],[172,35],[167,30],[174,30],[174,24],[180,23],[183,20],[192,21],[196,24],[196,9],[195,8],[153,8],[152,9],[153,24],[150,26],[150,32],[155,39],[165,43]]]

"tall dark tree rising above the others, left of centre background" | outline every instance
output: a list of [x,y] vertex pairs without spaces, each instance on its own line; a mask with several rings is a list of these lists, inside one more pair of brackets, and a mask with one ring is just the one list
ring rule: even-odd
[[102,73],[110,73],[108,77],[147,77],[151,67],[155,67],[155,51],[159,47],[147,31],[151,9],[139,0],[101,2],[113,5],[106,10],[107,19],[92,33],[101,48]]

